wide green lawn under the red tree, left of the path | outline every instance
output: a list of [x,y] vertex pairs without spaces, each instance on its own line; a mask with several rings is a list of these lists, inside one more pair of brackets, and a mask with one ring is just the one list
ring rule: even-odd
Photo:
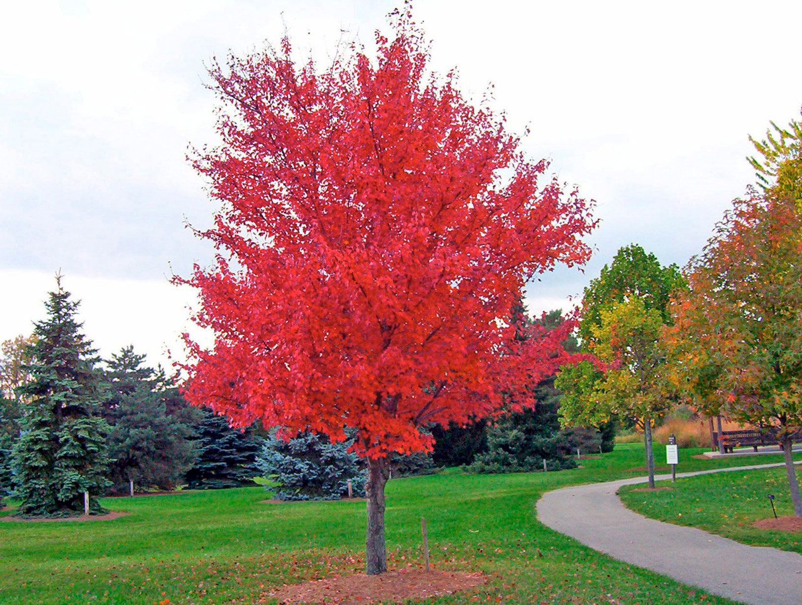
[[[682,470],[766,461],[702,461],[690,457],[695,452],[683,451]],[[642,465],[642,445],[619,445],[559,473],[451,470],[390,481],[390,566],[422,565],[424,516],[436,567],[490,576],[468,597],[430,603],[729,603],[596,554],[537,522],[534,504],[544,491],[641,475]],[[2,522],[0,603],[270,603],[271,586],[363,570],[364,502],[264,500],[261,488],[109,498],[103,506],[128,514]]]

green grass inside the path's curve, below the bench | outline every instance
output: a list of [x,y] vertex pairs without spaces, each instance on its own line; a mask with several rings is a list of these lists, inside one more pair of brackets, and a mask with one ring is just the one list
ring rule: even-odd
[[[772,456],[772,461],[780,460],[780,456]],[[673,484],[661,481],[658,487],[663,489],[626,485],[619,495],[626,506],[646,517],[699,527],[744,544],[802,554],[802,532],[761,530],[753,525],[759,519],[774,517],[768,494],[775,497],[778,516],[794,514],[784,466],[685,477]]]

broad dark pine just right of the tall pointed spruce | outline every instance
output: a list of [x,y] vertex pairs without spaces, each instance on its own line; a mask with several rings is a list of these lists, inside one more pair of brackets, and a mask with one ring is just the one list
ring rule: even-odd
[[111,424],[109,478],[115,493],[127,493],[128,481],[138,491],[174,489],[195,459],[192,427],[181,417],[178,389],[164,372],[143,362],[144,355],[133,347],[107,361],[103,408]]

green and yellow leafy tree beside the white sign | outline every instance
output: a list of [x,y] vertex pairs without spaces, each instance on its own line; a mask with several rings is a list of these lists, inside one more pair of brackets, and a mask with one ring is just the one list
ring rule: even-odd
[[660,341],[671,323],[670,298],[685,288],[677,266],[661,266],[654,254],[635,244],[618,250],[582,298],[582,348],[602,364],[586,361],[562,368],[556,383],[564,394],[563,424],[597,426],[618,416],[643,428],[650,486],[652,422],[671,401]]

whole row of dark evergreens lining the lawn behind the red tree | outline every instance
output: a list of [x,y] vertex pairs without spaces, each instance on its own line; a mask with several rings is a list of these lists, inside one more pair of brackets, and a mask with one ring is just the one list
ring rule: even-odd
[[[330,443],[305,433],[286,440],[257,426],[231,428],[224,416],[186,404],[176,377],[149,367],[124,347],[100,359],[76,320],[79,302],[58,288],[47,319],[28,338],[0,351],[0,503],[19,501],[18,514],[61,517],[101,514],[99,497],[129,493],[256,485],[264,477],[290,500],[364,495],[365,469],[350,441]],[[513,319],[521,339],[536,324],[554,327],[559,311],[537,322],[520,305]],[[576,342],[567,343],[576,348]],[[537,406],[467,427],[432,427],[435,449],[391,459],[394,477],[462,465],[469,472],[505,473],[572,468],[573,454],[606,449],[595,430],[561,429],[554,377],[532,388]],[[514,393],[508,396],[512,401]]]

